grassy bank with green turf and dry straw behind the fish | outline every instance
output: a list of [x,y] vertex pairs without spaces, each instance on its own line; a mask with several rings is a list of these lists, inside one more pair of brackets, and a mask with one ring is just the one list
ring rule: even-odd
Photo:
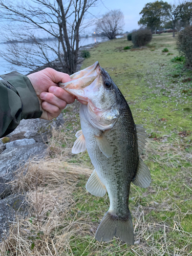
[[[94,239],[109,198],[86,191],[93,170],[88,153],[71,153],[80,130],[75,102],[63,111],[65,126],[53,132],[50,157],[31,163],[26,176],[17,176],[15,191],[27,191],[30,210],[12,226],[0,247],[3,255],[192,253],[192,74],[181,61],[171,61],[179,55],[172,35],[154,35],[141,49],[123,50],[125,46],[132,46],[125,38],[94,46],[81,69],[98,60],[125,96],[135,123],[144,124],[147,132],[142,159],[151,170],[152,183],[146,189],[131,185],[135,245]],[[164,48],[173,55],[162,53]]]

